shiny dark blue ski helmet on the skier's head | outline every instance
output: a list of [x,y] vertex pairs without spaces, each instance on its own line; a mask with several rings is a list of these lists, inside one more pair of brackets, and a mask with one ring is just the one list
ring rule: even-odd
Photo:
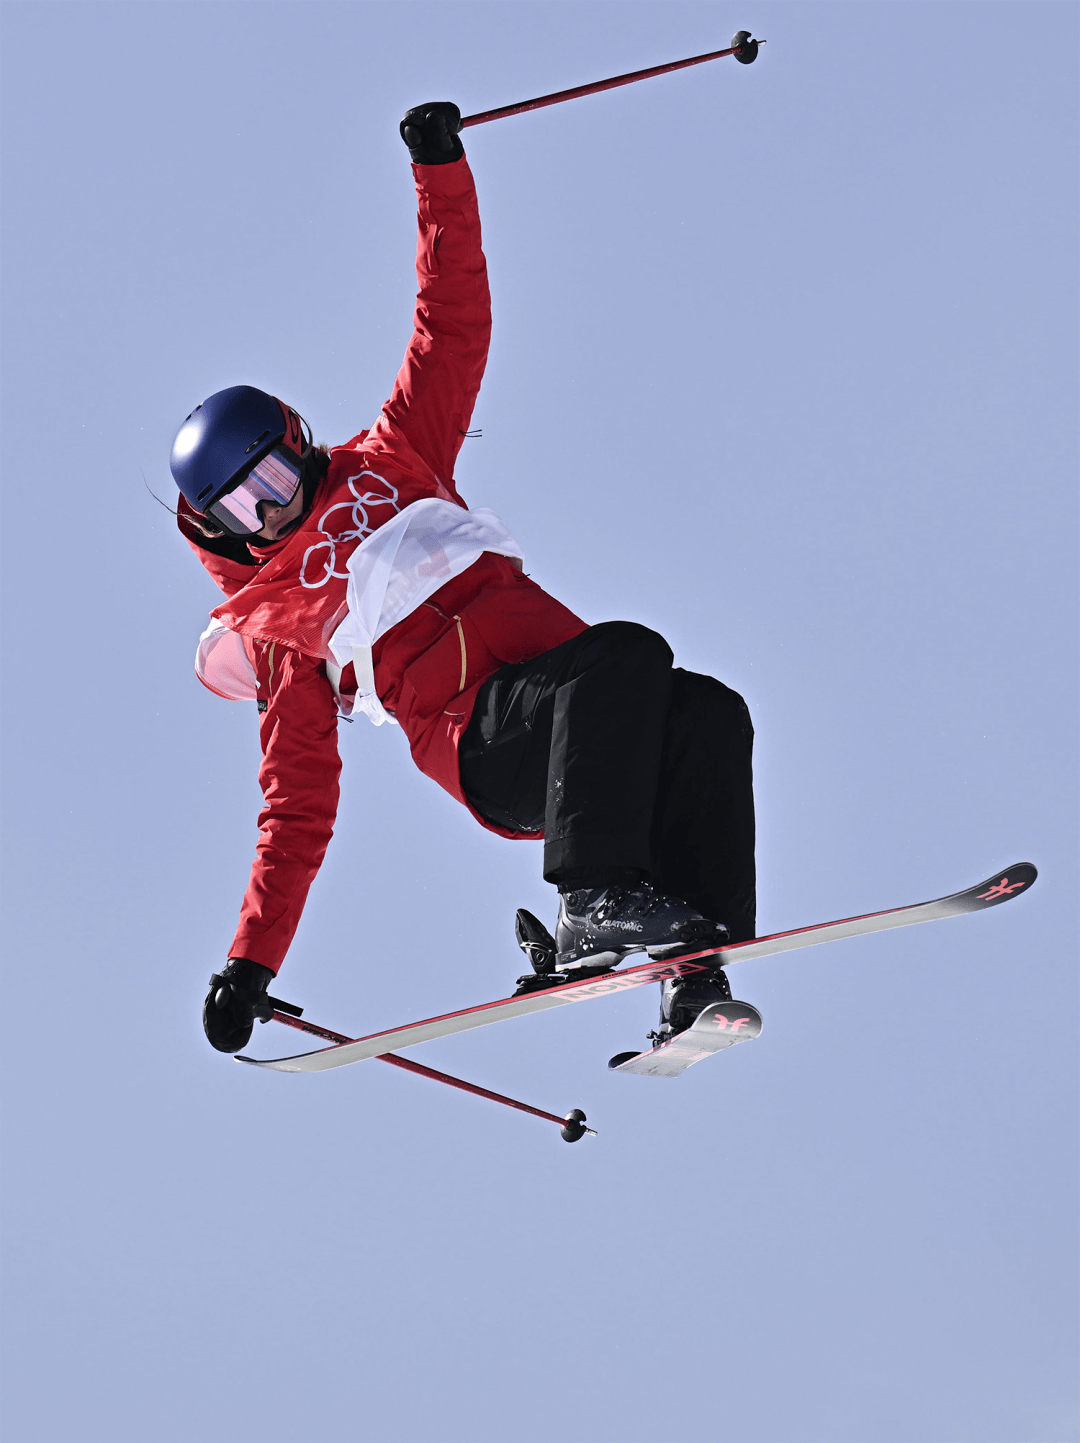
[[308,423],[283,401],[254,385],[230,385],[186,418],[172,443],[169,468],[189,505],[205,515],[270,452],[279,452],[299,475],[310,446]]

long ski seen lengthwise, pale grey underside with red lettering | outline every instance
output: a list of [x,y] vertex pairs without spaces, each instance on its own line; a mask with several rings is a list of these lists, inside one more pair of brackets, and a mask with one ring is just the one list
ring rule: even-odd
[[[355,1038],[351,1042],[321,1048],[318,1052],[267,1059],[237,1056],[237,1062],[245,1062],[257,1068],[271,1068],[276,1072],[325,1072],[329,1068],[341,1068],[351,1062],[362,1062],[367,1058],[396,1052],[400,1048],[414,1048],[417,1043],[432,1042],[435,1038],[448,1038],[458,1032],[468,1032],[472,1027],[508,1022],[511,1017],[527,1017],[531,1013],[546,1012],[550,1007],[566,1007],[570,1003],[586,1001],[589,997],[606,997],[612,993],[625,991],[630,987],[660,983],[669,977],[690,977],[694,973],[713,971],[718,965],[728,967],[732,962],[772,957],[778,952],[790,952],[801,947],[816,947],[822,942],[833,942],[845,937],[862,937],[868,932],[884,932],[894,926],[911,926],[915,922],[934,922],[946,916],[982,912],[985,908],[998,906],[1027,892],[1037,876],[1038,873],[1029,861],[1018,861],[1015,866],[988,877],[986,882],[977,883],[977,886],[954,892],[947,898],[939,898],[934,902],[891,908],[885,912],[868,912],[863,916],[849,916],[839,922],[820,922],[816,926],[803,926],[793,932],[775,932],[771,937],[758,937],[748,942],[732,942],[719,949],[710,948],[702,952],[690,952],[679,958],[654,958],[638,967],[628,967],[624,971],[605,973],[601,977],[589,977],[583,981],[556,984],[554,987],[528,993],[523,997],[505,997],[500,1001],[481,1003],[478,1007],[465,1007],[461,1012],[446,1013],[440,1017],[427,1017],[423,1022],[411,1022],[403,1027],[390,1027],[386,1032]],[[689,1062],[686,1065],[689,1066]]]

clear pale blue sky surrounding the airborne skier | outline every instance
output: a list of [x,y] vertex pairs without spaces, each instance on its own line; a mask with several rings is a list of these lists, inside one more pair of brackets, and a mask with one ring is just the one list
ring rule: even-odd
[[[768,39],[466,136],[495,339],[459,468],[588,620],[758,729],[752,1045],[628,994],[362,1063],[206,1046],[258,805],[169,496],[192,405],[335,443],[409,335],[403,110]],[[1071,4],[3,7],[7,1443],[1064,1443],[1076,1410]],[[347,1032],[495,997],[534,844],[390,727],[282,973]],[[277,1035],[276,1035],[277,1033]],[[263,1055],[287,1051],[258,1029]]]

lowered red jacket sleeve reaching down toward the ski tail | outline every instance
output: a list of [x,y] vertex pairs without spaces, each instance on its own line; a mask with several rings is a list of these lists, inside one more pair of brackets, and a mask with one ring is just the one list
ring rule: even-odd
[[316,657],[257,641],[254,662],[263,810],[251,879],[228,955],[247,957],[276,973],[334,833],[341,775],[338,709]]

